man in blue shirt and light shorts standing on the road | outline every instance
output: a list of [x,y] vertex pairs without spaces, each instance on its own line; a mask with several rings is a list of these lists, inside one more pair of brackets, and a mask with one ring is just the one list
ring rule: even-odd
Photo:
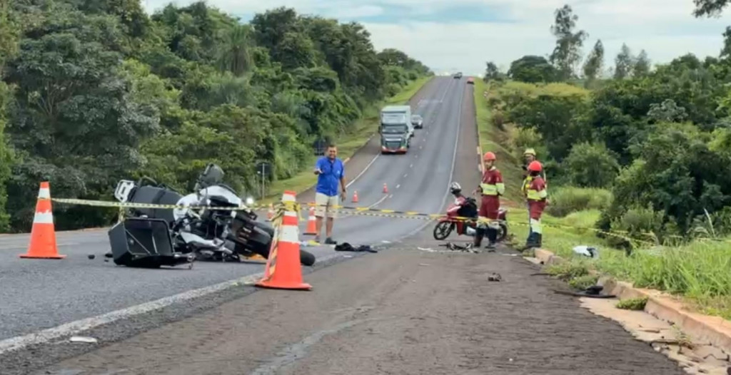
[[319,237],[322,233],[322,217],[325,217],[325,213],[327,213],[325,244],[336,244],[337,242],[333,241],[333,221],[336,213],[331,207],[338,206],[338,182],[340,183],[340,196],[345,201],[345,165],[337,158],[338,148],[335,144],[327,147],[326,155],[317,160],[314,170],[314,173],[317,174],[315,228],[317,228]]

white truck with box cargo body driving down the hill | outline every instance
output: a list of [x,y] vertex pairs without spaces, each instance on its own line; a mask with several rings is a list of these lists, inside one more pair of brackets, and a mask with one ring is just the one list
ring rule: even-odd
[[414,125],[411,106],[386,106],[381,109],[381,153],[405,154],[411,146]]

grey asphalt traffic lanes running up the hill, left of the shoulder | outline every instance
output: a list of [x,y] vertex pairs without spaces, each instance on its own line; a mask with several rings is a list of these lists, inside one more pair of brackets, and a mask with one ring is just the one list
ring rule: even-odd
[[[425,119],[406,155],[378,155],[349,187],[360,206],[439,212],[452,178],[465,80],[436,77],[424,88],[415,113]],[[471,100],[471,98],[469,98]],[[352,172],[349,179],[355,176]],[[390,193],[382,193],[386,183]],[[53,192],[52,192],[53,193]],[[348,197],[350,198],[350,197]],[[306,223],[303,223],[305,225]],[[344,217],[336,240],[379,244],[409,236],[427,222],[382,217]],[[306,237],[303,236],[303,239]],[[106,231],[58,233],[64,260],[27,260],[28,235],[0,236],[0,340],[95,317],[187,290],[261,272],[261,264],[197,262],[186,268],[145,270],[105,263]],[[308,248],[318,256],[331,247]],[[89,260],[88,254],[96,259]]]

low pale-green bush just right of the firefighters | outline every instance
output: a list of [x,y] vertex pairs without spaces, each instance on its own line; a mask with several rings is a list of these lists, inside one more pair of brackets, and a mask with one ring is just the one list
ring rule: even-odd
[[548,192],[550,204],[546,206],[546,212],[556,217],[588,209],[605,209],[612,203],[612,193],[604,189],[561,187]]

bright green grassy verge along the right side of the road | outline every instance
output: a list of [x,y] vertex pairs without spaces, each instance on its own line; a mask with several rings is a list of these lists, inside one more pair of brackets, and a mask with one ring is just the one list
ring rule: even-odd
[[[520,196],[520,153],[515,146],[512,124],[500,127],[493,122],[488,98],[519,91],[522,95],[545,93],[561,95],[583,90],[571,85],[545,86],[507,82],[501,88],[489,88],[485,82],[475,82],[475,104],[483,152],[496,152],[499,168],[506,179],[507,205],[510,209],[511,231],[516,242],[523,244],[528,227],[527,212]],[[488,90],[489,89],[489,90]],[[488,92],[488,98],[483,94]],[[493,101],[494,102],[494,101]],[[540,156],[540,155],[539,155]],[[586,287],[596,282],[588,270],[594,269],[617,279],[632,282],[637,287],[648,287],[673,293],[686,306],[697,312],[731,320],[731,244],[729,242],[694,241],[682,247],[641,244],[631,257],[623,250],[613,249],[607,241],[596,237],[594,223],[600,209],[607,206],[611,194],[606,190],[552,186],[549,190],[552,207],[544,214],[543,246],[569,262],[553,268],[575,287]],[[561,217],[558,217],[561,215]],[[599,248],[599,259],[577,257],[572,248],[591,245]]]

